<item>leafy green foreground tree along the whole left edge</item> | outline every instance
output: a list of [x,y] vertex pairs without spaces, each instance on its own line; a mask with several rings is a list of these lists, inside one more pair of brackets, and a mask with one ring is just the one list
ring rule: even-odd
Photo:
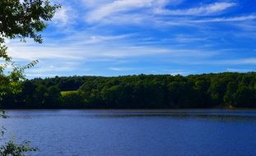
[[[47,27],[46,21],[51,20],[58,7],[51,5],[49,0],[0,1],[0,58],[4,62],[0,66],[0,103],[8,92],[13,94],[21,92],[21,80],[25,79],[24,70],[37,63],[37,61],[30,62],[24,67],[17,65],[7,54],[5,39],[18,38],[25,41],[26,38],[31,38],[37,43],[42,43],[43,39],[38,32]],[[6,74],[8,66],[12,66],[12,71]],[[5,117],[4,114],[2,117]],[[28,151],[35,150],[30,148],[28,142],[16,145],[13,141],[9,141],[0,147],[0,154],[22,156]]]

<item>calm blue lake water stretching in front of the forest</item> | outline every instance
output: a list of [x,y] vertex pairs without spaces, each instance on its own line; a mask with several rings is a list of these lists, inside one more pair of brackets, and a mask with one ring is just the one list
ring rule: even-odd
[[256,155],[254,110],[9,110],[7,136],[30,155]]

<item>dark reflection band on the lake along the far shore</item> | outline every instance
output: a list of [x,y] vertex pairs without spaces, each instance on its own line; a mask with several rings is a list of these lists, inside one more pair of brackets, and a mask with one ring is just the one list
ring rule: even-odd
[[256,110],[12,110],[12,118],[42,117],[91,117],[91,118],[127,118],[127,117],[171,117],[205,118],[226,120],[255,120]]

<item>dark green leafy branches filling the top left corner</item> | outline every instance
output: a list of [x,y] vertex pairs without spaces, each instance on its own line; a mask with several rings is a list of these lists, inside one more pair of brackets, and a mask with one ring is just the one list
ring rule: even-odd
[[[58,5],[52,6],[48,0],[1,0],[0,1],[0,39],[29,37],[42,43],[38,32],[47,27]],[[0,42],[3,43],[3,42]]]

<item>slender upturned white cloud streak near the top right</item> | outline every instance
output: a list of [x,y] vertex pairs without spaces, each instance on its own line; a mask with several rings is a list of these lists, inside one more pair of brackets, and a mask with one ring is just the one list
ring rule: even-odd
[[207,16],[221,11],[225,11],[230,7],[234,7],[235,2],[215,2],[207,6],[194,7],[184,10],[168,10],[163,8],[158,8],[155,10],[156,14],[160,15],[171,15],[171,16]]

